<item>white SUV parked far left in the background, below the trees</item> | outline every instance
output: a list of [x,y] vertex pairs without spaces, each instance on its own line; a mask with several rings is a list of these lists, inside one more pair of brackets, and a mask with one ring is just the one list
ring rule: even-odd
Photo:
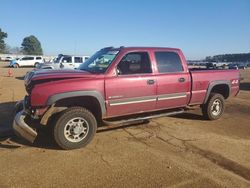
[[25,56],[18,60],[10,61],[10,67],[18,68],[18,67],[38,67],[40,64],[44,63],[42,56]]

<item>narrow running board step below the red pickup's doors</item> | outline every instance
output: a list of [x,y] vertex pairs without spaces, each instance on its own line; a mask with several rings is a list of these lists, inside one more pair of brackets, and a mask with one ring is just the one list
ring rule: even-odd
[[115,128],[117,126],[119,127],[119,126],[125,126],[125,125],[130,125],[130,124],[143,123],[149,119],[160,118],[160,117],[165,117],[165,116],[173,116],[173,115],[181,114],[183,112],[185,112],[185,110],[180,109],[178,111],[155,114],[155,115],[148,115],[144,117],[129,118],[129,119],[123,119],[123,120],[113,120],[113,121],[103,120],[105,126],[99,127],[98,130],[102,130],[106,128]]

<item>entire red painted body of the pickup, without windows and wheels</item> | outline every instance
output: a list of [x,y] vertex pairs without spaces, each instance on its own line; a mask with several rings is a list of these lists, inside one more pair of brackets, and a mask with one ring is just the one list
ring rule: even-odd
[[[105,117],[116,117],[159,109],[203,104],[208,87],[214,81],[229,81],[231,96],[239,91],[238,70],[189,71],[181,50],[176,48],[119,48],[119,53],[104,74],[84,71],[38,71],[31,81],[36,83],[30,93],[33,108],[44,107],[50,96],[72,91],[97,91],[105,99]],[[171,51],[179,55],[183,71],[158,72],[155,51]],[[152,73],[119,76],[116,66],[130,52],[147,52]],[[185,81],[180,82],[183,78]],[[147,84],[154,80],[154,84]],[[237,80],[237,82],[236,82]]]

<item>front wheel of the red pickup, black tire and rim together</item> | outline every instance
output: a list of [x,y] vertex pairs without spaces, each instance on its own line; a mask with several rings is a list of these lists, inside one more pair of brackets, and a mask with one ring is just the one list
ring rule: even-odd
[[[74,122],[75,120],[78,120],[78,123]],[[79,120],[83,121],[80,122],[82,125],[79,125]],[[78,129],[75,128],[76,126]],[[87,129],[87,131],[86,134],[75,133],[75,129],[78,132],[81,129]],[[77,149],[86,146],[93,139],[96,129],[96,118],[90,111],[82,107],[71,107],[61,112],[56,118],[54,139],[62,149]]]

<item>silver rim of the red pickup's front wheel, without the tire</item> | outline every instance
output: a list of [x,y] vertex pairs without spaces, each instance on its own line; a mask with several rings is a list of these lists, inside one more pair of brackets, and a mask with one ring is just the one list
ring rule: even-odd
[[69,120],[64,127],[64,136],[70,142],[82,141],[89,132],[89,124],[82,117]]

